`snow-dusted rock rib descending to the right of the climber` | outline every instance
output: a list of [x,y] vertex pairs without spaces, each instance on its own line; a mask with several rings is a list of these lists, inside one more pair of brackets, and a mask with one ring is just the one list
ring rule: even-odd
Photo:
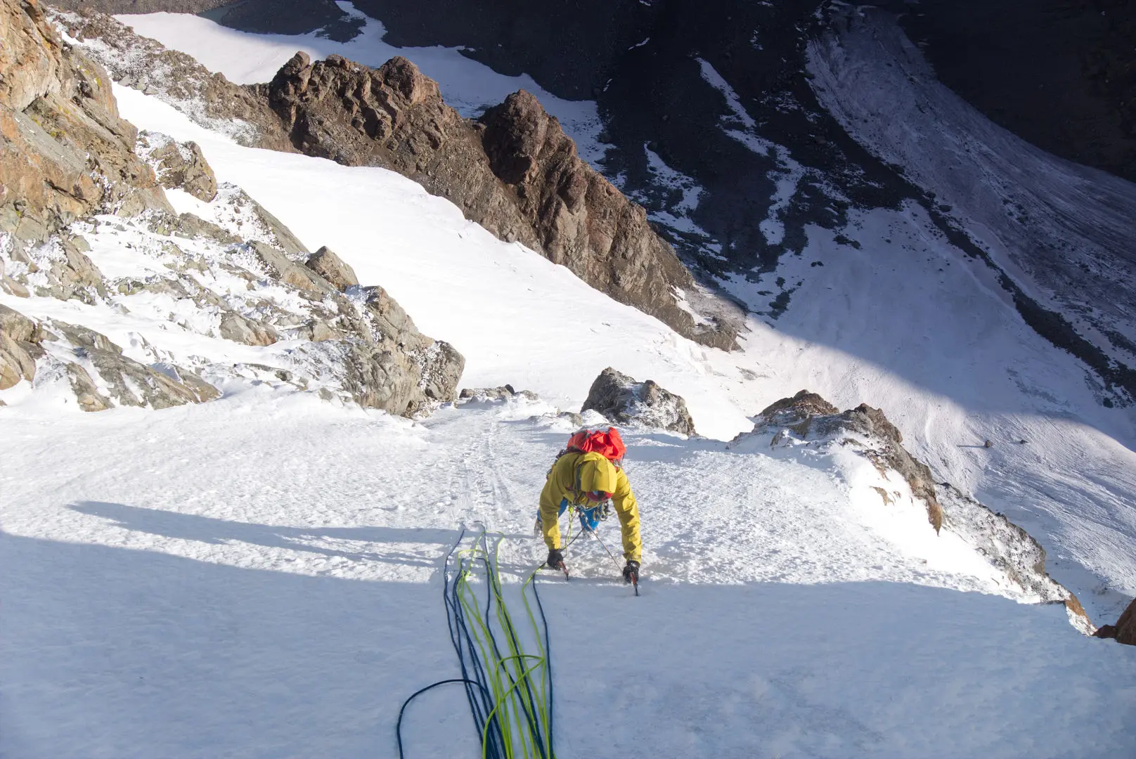
[[[850,450],[871,462],[883,478],[897,475],[910,487],[914,503],[926,509],[927,520],[938,533],[959,535],[985,557],[1025,597],[1045,603],[1063,603],[1070,622],[1085,634],[1094,631],[1077,597],[1045,570],[1045,549],[1025,529],[949,483],[937,489],[930,468],[903,448],[903,435],[880,409],[861,403],[838,411],[817,393],[802,390],[771,403],[757,417],[753,431],[730,443],[768,437],[769,448],[793,443],[811,450]],[[894,486],[872,486],[885,506],[895,504],[901,492]]]

